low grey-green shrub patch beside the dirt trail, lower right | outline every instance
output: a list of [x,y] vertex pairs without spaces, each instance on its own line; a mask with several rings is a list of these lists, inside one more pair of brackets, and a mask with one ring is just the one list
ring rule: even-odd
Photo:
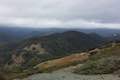
[[97,61],[88,61],[80,68],[75,69],[79,74],[109,74],[120,69],[120,58],[109,57]]

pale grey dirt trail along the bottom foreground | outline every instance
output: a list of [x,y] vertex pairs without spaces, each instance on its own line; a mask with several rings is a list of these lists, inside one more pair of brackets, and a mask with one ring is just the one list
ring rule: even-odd
[[120,80],[117,75],[78,75],[72,73],[73,69],[81,66],[71,66],[52,73],[42,73],[29,76],[23,80]]

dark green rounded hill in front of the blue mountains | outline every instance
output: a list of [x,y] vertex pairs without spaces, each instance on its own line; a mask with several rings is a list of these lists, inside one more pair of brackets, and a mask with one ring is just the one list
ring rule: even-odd
[[31,38],[21,43],[22,45],[20,46],[22,48],[35,42],[41,43],[42,47],[54,56],[62,56],[100,47],[104,43],[104,38],[95,34],[68,31]]

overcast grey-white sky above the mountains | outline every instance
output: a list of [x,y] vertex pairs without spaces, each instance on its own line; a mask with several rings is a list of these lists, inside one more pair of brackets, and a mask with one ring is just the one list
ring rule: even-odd
[[0,24],[120,28],[120,0],[0,0]]

